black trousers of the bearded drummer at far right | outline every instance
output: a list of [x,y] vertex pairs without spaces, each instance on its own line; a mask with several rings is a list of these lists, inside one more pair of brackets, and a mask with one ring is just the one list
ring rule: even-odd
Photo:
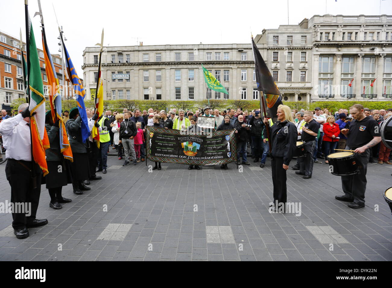
[[[355,148],[350,148],[355,150]],[[369,162],[370,149],[366,149],[362,154],[356,153],[355,161],[359,167],[360,173],[351,176],[341,176],[342,189],[345,197],[352,199],[357,204],[365,204],[365,191],[366,191],[366,172],[367,164]]]

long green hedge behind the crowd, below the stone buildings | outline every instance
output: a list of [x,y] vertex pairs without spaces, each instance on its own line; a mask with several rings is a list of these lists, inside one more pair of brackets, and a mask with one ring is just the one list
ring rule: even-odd
[[[12,109],[17,109],[21,103],[25,103],[25,98],[19,98],[11,104]],[[49,101],[46,101],[46,109],[50,109]],[[314,110],[315,107],[328,108],[328,110],[337,111],[340,108],[348,109],[354,104],[362,104],[369,109],[388,109],[392,108],[391,101],[323,101],[307,103],[304,101],[284,102],[291,109]],[[71,110],[76,107],[76,100],[63,100],[63,110]],[[199,107],[203,108],[209,105],[212,109],[226,110],[228,107],[240,108],[241,110],[253,110],[260,108],[258,100],[201,100],[201,101],[167,101],[167,100],[104,100],[103,109],[122,112],[123,108],[134,110],[147,110],[149,108],[157,110],[171,110],[172,108],[196,111]],[[85,106],[93,108],[94,101],[86,100]]]

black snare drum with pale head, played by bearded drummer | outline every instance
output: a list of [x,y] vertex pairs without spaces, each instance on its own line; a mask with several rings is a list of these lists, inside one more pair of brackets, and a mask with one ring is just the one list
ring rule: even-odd
[[330,172],[336,176],[350,176],[359,173],[359,168],[355,161],[355,154],[353,152],[336,152],[329,154],[327,160],[330,167]]

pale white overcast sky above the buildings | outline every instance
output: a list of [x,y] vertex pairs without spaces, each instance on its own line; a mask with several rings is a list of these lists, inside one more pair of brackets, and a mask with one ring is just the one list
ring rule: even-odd
[[[380,3],[381,14],[392,14],[392,0],[41,0],[41,7],[50,52],[59,53],[54,5],[65,45],[82,77],[83,50],[100,42],[102,28],[105,46],[138,41],[143,45],[250,43],[250,29],[256,36],[262,29],[287,25],[287,2],[289,24],[326,12],[379,15]],[[0,0],[0,11],[0,30],[19,38],[22,27],[25,41],[24,0]],[[37,47],[42,48],[40,19],[33,18],[36,11],[38,2],[29,0]]]

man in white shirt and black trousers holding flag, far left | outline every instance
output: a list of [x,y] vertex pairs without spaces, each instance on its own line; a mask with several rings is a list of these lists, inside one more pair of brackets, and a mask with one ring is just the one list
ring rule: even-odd
[[[15,117],[1,121],[0,134],[7,149],[5,175],[11,185],[11,203],[15,208],[24,207],[24,211],[14,210],[12,213],[12,227],[16,238],[24,239],[29,237],[27,228],[43,226],[48,221],[35,218],[40,201],[42,170],[31,161],[29,104],[19,105],[18,111]],[[33,165],[35,175],[32,175]]]

